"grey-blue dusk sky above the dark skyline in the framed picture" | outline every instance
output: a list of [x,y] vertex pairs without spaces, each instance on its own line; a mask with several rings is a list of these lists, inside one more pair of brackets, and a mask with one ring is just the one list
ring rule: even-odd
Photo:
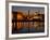
[[13,5],[12,6],[12,11],[16,12],[16,11],[20,11],[20,12],[23,12],[24,14],[28,14],[28,11],[29,11],[29,14],[33,14],[35,12],[38,12],[39,13],[45,13],[45,8],[35,8],[35,6],[16,6],[16,5]]

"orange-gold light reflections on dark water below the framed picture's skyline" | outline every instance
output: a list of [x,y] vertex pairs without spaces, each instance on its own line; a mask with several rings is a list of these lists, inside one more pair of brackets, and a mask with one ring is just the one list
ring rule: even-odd
[[42,27],[43,22],[17,22],[17,28],[33,28],[33,27]]

